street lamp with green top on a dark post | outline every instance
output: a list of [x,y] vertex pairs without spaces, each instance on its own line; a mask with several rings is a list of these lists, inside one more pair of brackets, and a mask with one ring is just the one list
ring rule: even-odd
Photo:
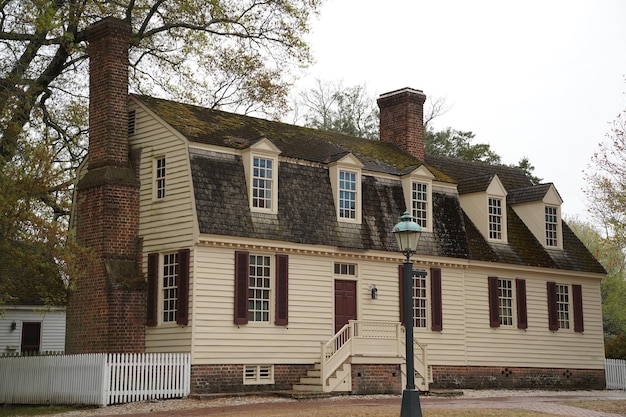
[[400,252],[406,256],[404,278],[402,281],[404,327],[406,335],[406,388],[402,392],[400,417],[422,417],[419,391],[415,388],[415,356],[413,350],[413,263],[411,255],[417,252],[422,228],[412,220],[408,211],[400,217],[402,220],[391,230]]

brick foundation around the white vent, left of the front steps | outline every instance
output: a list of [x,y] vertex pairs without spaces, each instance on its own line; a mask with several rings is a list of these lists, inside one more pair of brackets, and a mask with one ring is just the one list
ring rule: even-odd
[[243,384],[243,365],[192,365],[191,393],[233,393],[291,390],[311,365],[274,365],[274,383]]

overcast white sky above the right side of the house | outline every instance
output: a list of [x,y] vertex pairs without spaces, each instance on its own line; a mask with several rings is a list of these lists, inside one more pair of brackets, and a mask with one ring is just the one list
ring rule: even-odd
[[626,109],[624,0],[327,0],[308,38],[315,78],[443,97],[434,126],[527,156],[566,216],[588,219],[583,170]]

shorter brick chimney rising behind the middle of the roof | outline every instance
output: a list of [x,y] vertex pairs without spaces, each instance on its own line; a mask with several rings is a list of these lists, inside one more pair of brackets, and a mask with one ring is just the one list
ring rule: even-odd
[[421,90],[403,88],[381,94],[380,140],[393,143],[420,161],[424,160],[424,102]]

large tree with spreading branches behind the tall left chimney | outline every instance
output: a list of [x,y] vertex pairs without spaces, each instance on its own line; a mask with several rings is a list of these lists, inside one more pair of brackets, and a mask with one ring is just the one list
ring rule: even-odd
[[106,16],[129,22],[132,91],[272,114],[286,107],[291,71],[311,61],[303,35],[321,1],[0,1],[4,259],[19,269],[18,259],[42,254],[37,262],[64,277],[84,255],[70,250],[67,223],[86,151],[89,25]]

